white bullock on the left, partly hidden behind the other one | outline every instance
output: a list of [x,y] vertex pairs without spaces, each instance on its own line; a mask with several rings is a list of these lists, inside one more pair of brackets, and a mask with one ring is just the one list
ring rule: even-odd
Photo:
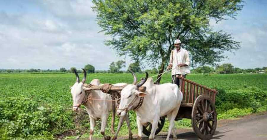
[[[84,78],[82,79],[82,82],[80,82],[79,75],[77,74],[77,71],[75,70],[74,73],[76,75],[76,82],[75,84],[71,87],[71,94],[72,94],[72,99],[73,99],[73,111],[79,110],[79,107],[81,105],[84,105],[86,108],[87,113],[89,114],[90,117],[90,140],[92,140],[93,132],[94,132],[94,126],[95,126],[95,121],[98,120],[99,118],[101,119],[101,130],[100,133],[104,136],[105,140],[109,140],[110,137],[105,135],[105,128],[107,125],[107,119],[109,116],[109,112],[112,111],[112,102],[111,101],[105,101],[105,100],[111,100],[111,97],[103,93],[100,90],[91,90],[90,88],[86,88],[83,86],[86,80],[86,71],[84,71]],[[91,81],[92,85],[101,85],[99,79],[93,79]],[[116,86],[123,86],[126,85],[126,83],[119,83],[115,84]],[[91,98],[93,99],[99,99],[99,100],[92,100],[92,101],[87,101],[87,94],[85,91],[91,90]],[[102,101],[101,101],[102,100]],[[120,118],[120,123],[125,119],[128,130],[129,130],[129,139],[132,139],[132,132],[130,128],[130,123],[129,123],[129,118],[128,115],[125,117],[122,116]],[[120,125],[122,125],[122,123]],[[118,126],[120,128],[120,126]],[[117,130],[114,139],[117,138],[119,129]]]

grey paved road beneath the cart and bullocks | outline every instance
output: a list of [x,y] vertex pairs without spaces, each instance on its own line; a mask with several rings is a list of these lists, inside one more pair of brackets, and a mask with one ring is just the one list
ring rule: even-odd
[[[179,140],[198,139],[192,130],[178,129],[177,134]],[[156,140],[163,139],[166,139],[166,133],[156,136]],[[267,140],[267,112],[241,117],[238,120],[222,120],[218,123],[213,139]],[[120,138],[120,140],[126,139]],[[148,140],[148,138],[143,137],[143,140]]]

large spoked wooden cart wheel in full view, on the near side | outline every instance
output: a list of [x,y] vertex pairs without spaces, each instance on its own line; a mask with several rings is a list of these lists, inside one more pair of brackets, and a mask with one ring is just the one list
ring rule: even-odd
[[192,127],[196,135],[202,139],[211,139],[217,126],[215,105],[207,95],[196,99],[192,110]]

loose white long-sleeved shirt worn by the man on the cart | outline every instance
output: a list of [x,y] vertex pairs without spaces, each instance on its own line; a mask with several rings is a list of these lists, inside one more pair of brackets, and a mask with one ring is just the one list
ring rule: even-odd
[[[178,64],[185,63],[187,66],[183,66],[178,68]],[[189,64],[190,64],[190,59],[189,59],[189,54],[188,51],[181,49],[177,52],[176,49],[172,50],[171,55],[170,55],[170,64],[172,64],[172,74],[189,74],[190,69],[189,69]]]

